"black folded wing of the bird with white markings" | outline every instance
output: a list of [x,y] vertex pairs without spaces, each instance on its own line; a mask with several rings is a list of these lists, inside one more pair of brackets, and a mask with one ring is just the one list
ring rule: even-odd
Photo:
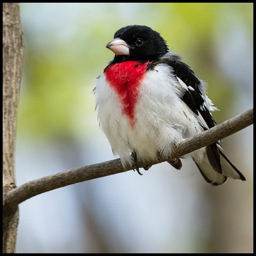
[[[208,127],[205,127],[203,124],[201,126],[204,130],[210,129],[214,126],[215,121],[212,118],[212,115],[204,105],[205,98],[203,92],[200,90],[202,87],[201,81],[196,77],[194,71],[184,62],[181,61],[181,58],[176,54],[166,55],[161,59],[161,63],[166,63],[171,66],[173,69],[173,74],[179,77],[186,86],[188,90],[185,91],[181,100],[186,103],[186,105],[198,116],[199,114],[203,117],[205,123]],[[189,86],[190,90],[189,90]],[[213,169],[218,173],[222,173],[221,164],[220,164],[220,154],[216,143],[213,143],[210,146],[206,147],[207,157]]]

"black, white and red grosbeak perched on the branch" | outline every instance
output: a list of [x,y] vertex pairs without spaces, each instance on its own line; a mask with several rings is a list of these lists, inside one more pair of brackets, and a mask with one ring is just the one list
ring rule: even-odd
[[[93,93],[113,154],[139,174],[138,161],[159,157],[180,170],[180,158],[171,159],[175,146],[215,125],[211,111],[217,107],[206,95],[206,83],[148,26],[122,27],[106,47],[115,56]],[[181,157],[191,157],[211,185],[228,177],[245,180],[223,154],[220,141]]]

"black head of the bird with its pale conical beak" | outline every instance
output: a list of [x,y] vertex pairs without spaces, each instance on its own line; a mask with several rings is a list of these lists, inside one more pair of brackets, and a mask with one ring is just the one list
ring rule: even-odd
[[115,53],[113,62],[157,60],[168,52],[163,37],[147,26],[127,26],[116,31],[107,46]]

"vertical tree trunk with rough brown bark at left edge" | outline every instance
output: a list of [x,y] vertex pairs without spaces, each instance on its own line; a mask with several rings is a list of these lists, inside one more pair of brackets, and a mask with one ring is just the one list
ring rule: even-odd
[[[19,3],[3,3],[3,203],[15,187],[14,158],[22,70],[22,29]],[[18,206],[3,209],[3,253],[14,253]]]

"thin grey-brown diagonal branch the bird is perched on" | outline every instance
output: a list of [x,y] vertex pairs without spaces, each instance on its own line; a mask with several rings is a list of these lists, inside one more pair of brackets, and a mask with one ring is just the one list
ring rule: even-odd
[[[173,150],[172,158],[181,157],[199,148],[210,145],[229,135],[244,129],[253,124],[253,108],[246,110],[228,121],[225,121],[211,129],[185,139]],[[138,163],[138,167],[158,164],[167,159],[158,159],[148,163]],[[15,206],[30,197],[42,194],[46,191],[65,187],[77,182],[105,177],[111,174],[132,170],[132,167],[123,169],[120,159],[107,161],[99,164],[87,165],[59,172],[37,180],[29,181],[18,188],[14,188],[6,193],[5,206]]]

